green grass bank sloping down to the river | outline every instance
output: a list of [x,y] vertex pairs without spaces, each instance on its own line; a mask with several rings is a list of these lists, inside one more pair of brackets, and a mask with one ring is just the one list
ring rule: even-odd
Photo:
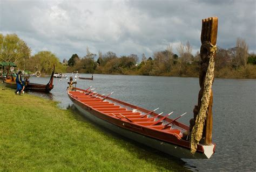
[[183,161],[105,132],[57,102],[3,88],[0,171],[186,170]]

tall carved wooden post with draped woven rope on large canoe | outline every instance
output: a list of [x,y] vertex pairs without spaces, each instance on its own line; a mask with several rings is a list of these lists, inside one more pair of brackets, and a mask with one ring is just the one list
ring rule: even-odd
[[190,120],[191,153],[201,144],[212,143],[212,83],[214,79],[214,58],[216,56],[216,42],[218,31],[218,18],[203,19],[201,30],[201,68],[199,75],[200,91],[198,105],[194,107],[194,118]]

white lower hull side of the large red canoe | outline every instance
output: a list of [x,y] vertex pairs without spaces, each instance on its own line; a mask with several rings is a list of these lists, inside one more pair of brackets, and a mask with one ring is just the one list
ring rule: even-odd
[[[71,99],[72,100],[72,99]],[[116,132],[120,135],[123,135],[126,138],[129,138],[131,140],[137,141],[140,144],[152,147],[154,149],[160,150],[161,152],[164,152],[166,154],[178,157],[180,159],[208,159],[207,155],[205,153],[195,153],[192,155],[190,153],[190,149],[186,149],[184,147],[180,147],[177,145],[170,144],[165,141],[161,141],[158,139],[150,138],[145,135],[132,132],[130,130],[127,130],[125,128],[119,127],[117,125],[109,123],[109,121],[103,120],[95,116],[92,111],[86,111],[83,107],[76,104],[76,101],[73,101],[76,108],[88,119],[93,121],[94,123],[103,126],[113,132]],[[213,154],[214,145],[208,146],[210,148],[210,153]],[[210,156],[211,156],[210,155]]]

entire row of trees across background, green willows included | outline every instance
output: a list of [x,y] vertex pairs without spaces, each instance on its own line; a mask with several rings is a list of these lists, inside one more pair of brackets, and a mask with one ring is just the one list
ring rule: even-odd
[[[177,54],[173,53],[176,48]],[[200,67],[200,53],[192,54],[189,41],[180,42],[177,47],[167,45],[165,50],[154,52],[152,57],[142,54],[138,60],[136,54],[117,56],[114,52],[97,54],[86,48],[83,57],[73,54],[69,60],[60,62],[57,56],[49,51],[41,51],[31,55],[31,49],[26,42],[16,34],[0,33],[0,61],[14,62],[18,69],[31,72],[41,71],[50,74],[53,64],[56,72],[151,75],[151,76],[179,76],[198,77]],[[226,78],[256,78],[256,55],[248,53],[245,39],[238,38],[236,46],[224,49],[218,47],[215,58],[215,77]]]

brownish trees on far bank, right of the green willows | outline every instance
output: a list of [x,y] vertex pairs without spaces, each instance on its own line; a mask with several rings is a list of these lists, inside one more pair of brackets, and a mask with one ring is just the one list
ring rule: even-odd
[[[93,54],[86,48],[86,55],[81,58],[73,54],[66,61],[68,72],[98,74],[125,74],[151,76],[198,77],[200,68],[200,53],[192,54],[189,41],[180,42],[176,47],[178,54],[173,53],[172,45],[164,51],[154,52],[152,57],[142,54],[138,62],[136,54],[117,56],[107,52]],[[97,59],[97,60],[96,60]],[[248,53],[245,39],[238,38],[236,46],[224,49],[218,47],[215,58],[215,77],[221,78],[256,78],[256,55]]]

